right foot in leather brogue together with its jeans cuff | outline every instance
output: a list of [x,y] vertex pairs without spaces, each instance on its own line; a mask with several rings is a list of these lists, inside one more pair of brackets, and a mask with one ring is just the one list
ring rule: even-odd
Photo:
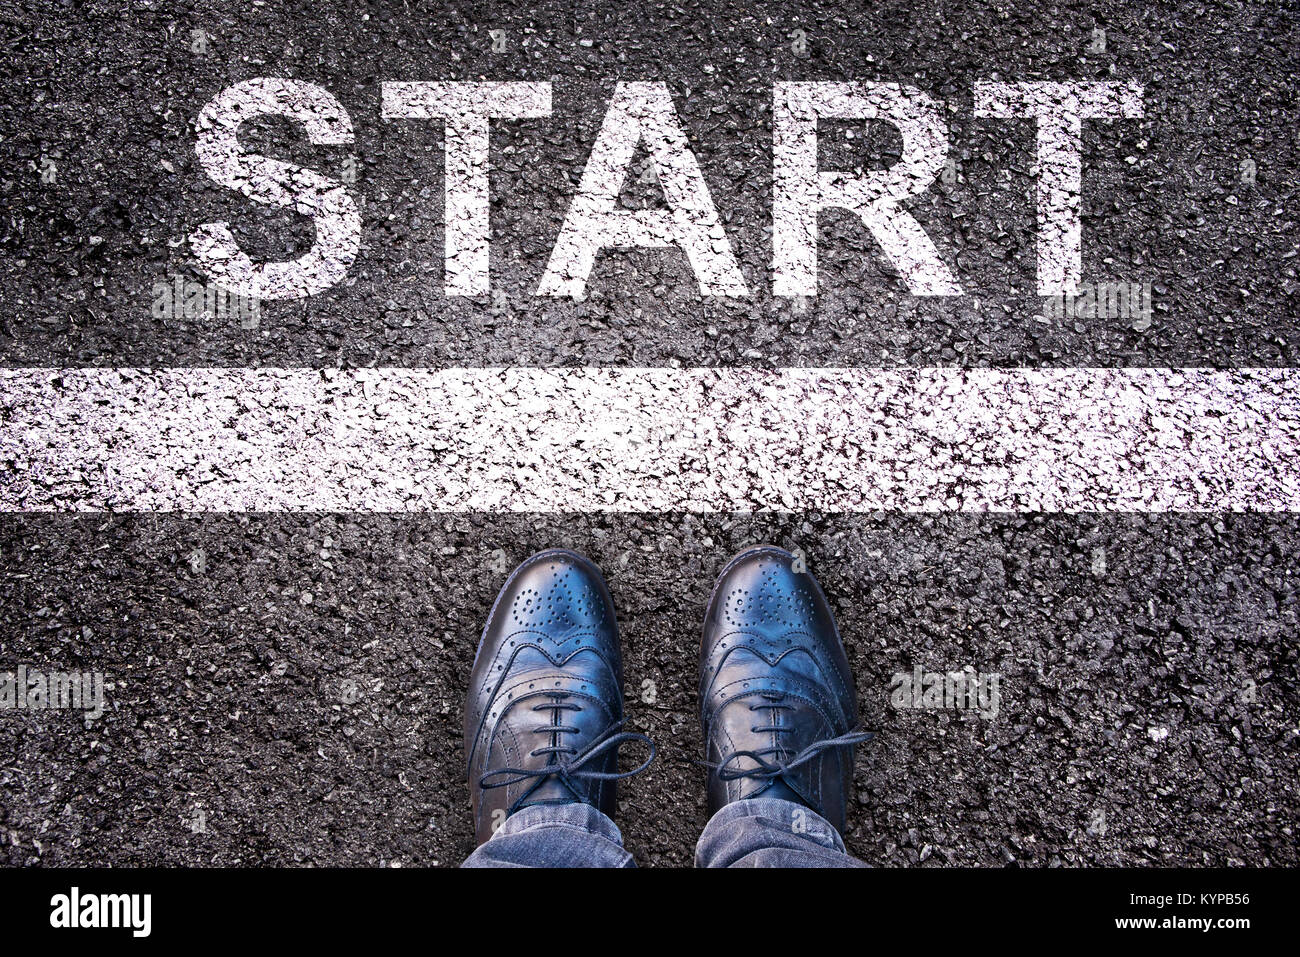
[[850,866],[858,702],[816,580],[781,549],[749,549],[714,586],[699,651],[712,819],[701,866]]

